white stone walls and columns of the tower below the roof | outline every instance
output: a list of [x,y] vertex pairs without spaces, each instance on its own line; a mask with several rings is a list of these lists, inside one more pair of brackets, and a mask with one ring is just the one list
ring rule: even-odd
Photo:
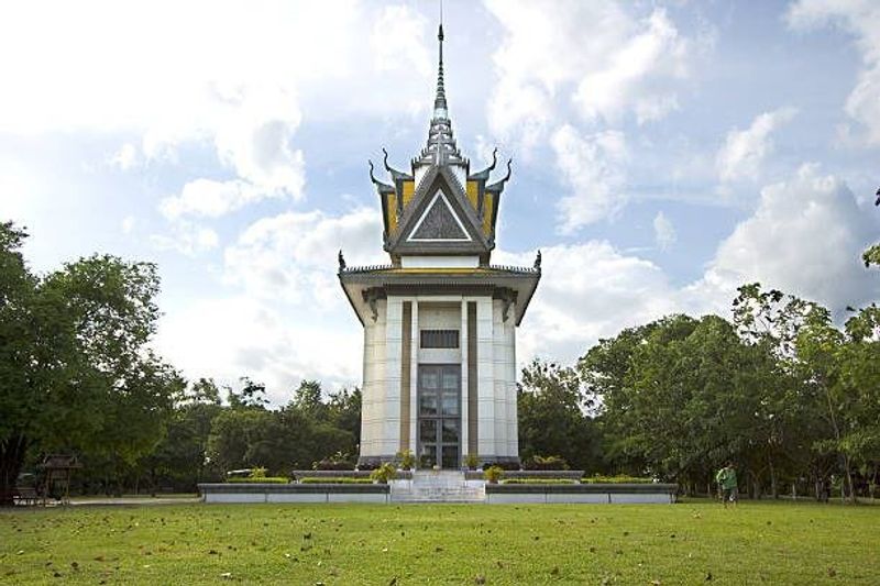
[[[409,384],[404,386],[404,303],[409,302]],[[469,303],[475,303],[475,333],[469,331]],[[515,307],[490,296],[388,296],[376,301],[376,319],[364,324],[364,380],[361,458],[387,460],[402,447],[417,453],[418,367],[461,366],[460,457],[473,443],[469,422],[475,420],[477,456],[484,461],[516,460],[519,455],[516,410]],[[458,349],[420,347],[421,330],[458,330]],[[475,335],[476,384],[469,385],[469,340]],[[476,390],[476,409],[469,409],[469,388]],[[408,401],[406,395],[408,394]],[[403,401],[403,403],[402,403]],[[402,407],[408,402],[408,418]],[[408,422],[407,422],[408,419]],[[403,422],[403,424],[402,424]]]

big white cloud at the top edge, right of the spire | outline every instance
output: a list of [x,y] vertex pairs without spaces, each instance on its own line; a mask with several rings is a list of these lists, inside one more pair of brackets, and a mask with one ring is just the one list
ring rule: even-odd
[[[490,125],[534,144],[573,104],[585,121],[639,123],[678,107],[694,43],[666,11],[642,16],[616,2],[487,0],[505,36],[493,56],[498,82]],[[528,144],[527,144],[528,145]]]

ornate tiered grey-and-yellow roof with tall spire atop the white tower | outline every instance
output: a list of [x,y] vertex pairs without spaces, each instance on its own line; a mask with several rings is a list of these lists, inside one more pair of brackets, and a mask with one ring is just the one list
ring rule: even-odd
[[[437,92],[426,146],[410,161],[410,173],[393,168],[383,148],[388,174],[385,180],[375,177],[370,162],[370,178],[382,202],[383,241],[391,264],[349,267],[340,251],[339,279],[361,322],[375,320],[376,302],[388,295],[466,294],[503,300],[505,321],[508,309],[514,307],[509,317],[518,325],[540,280],[540,253],[531,267],[490,264],[501,196],[510,178],[510,161],[506,174],[492,183],[497,150],[492,153],[488,167],[471,173],[471,163],[455,144],[449,118],[442,24],[438,42]],[[450,266],[402,262],[404,257],[454,256],[469,257],[473,264],[465,259],[450,262]]]

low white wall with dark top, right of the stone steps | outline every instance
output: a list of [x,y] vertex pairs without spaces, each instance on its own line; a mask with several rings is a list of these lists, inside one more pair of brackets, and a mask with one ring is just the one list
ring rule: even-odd
[[675,484],[486,484],[486,502],[671,504]]

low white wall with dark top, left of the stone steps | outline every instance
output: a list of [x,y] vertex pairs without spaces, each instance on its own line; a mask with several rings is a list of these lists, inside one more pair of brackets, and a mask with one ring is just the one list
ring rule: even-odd
[[202,502],[388,502],[386,484],[200,484]]

